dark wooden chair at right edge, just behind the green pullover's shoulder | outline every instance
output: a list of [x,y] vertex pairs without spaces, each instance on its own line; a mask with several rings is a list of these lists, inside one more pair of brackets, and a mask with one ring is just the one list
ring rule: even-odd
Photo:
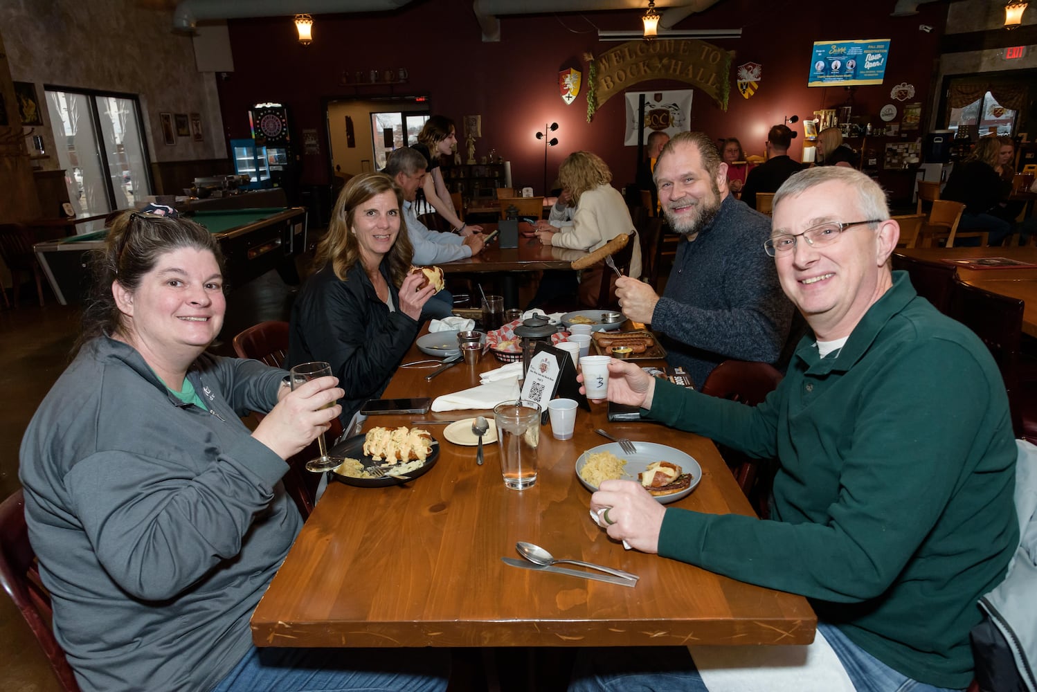
[[958,320],[986,344],[1005,380],[1016,437],[1037,441],[1037,385],[1019,377],[1022,346],[1022,300],[970,286],[954,279],[948,316]]

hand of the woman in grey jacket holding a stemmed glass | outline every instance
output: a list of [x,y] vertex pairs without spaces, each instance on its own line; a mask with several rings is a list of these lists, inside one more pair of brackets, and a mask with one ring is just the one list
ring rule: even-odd
[[342,407],[335,402],[345,396],[337,386],[338,378],[330,373],[329,367],[327,375],[300,380],[260,421],[252,436],[282,459],[299,454],[314,438],[323,439],[332,419],[342,412]]

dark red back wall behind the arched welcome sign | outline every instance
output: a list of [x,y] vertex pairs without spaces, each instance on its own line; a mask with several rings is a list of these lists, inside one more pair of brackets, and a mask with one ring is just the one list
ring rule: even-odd
[[[927,3],[913,17],[892,18],[889,9],[823,10],[805,15],[801,3],[768,3],[792,11],[764,16],[758,0],[720,0],[709,10],[693,15],[676,29],[741,27],[740,39],[714,41],[735,51],[731,96],[725,113],[696,90],[692,128],[713,138],[737,137],[747,153],[762,153],[767,128],[786,116],[810,119],[815,110],[836,108],[852,98],[853,113],[869,114],[879,122],[878,110],[894,103],[891,88],[913,84],[923,104],[922,122],[933,102],[931,81],[937,47],[944,31],[946,5]],[[892,5],[892,3],[887,3]],[[633,180],[636,147],[625,147],[624,104],[613,96],[588,123],[586,120],[587,64],[584,52],[602,53],[617,46],[599,42],[596,28],[634,29],[639,11],[505,17],[500,42],[483,42],[470,0],[418,0],[396,12],[317,16],[313,44],[300,46],[287,17],[230,21],[234,71],[219,82],[223,121],[228,138],[248,137],[247,109],[257,102],[275,100],[291,109],[297,137],[315,127],[326,138],[321,98],[372,96],[390,93],[387,86],[342,86],[343,70],[380,71],[405,67],[409,82],[394,85],[399,94],[427,94],[433,113],[460,120],[482,116],[482,138],[476,155],[496,148],[511,161],[516,186],[532,185],[539,194],[543,178],[543,144],[534,138],[544,123],[557,121],[559,146],[548,152],[549,184],[558,165],[573,150],[589,149],[612,167],[617,186]],[[590,24],[593,22],[593,25]],[[931,33],[920,24],[933,27]],[[880,86],[808,88],[814,40],[890,38],[886,81]],[[745,62],[763,65],[756,94],[745,99],[734,86],[734,68]],[[584,73],[585,85],[571,106],[559,96],[558,73],[567,67]],[[680,82],[657,80],[628,87],[635,91],[683,89]],[[899,114],[897,119],[899,120]],[[460,127],[458,127],[460,129]],[[919,133],[920,134],[920,133]],[[460,135],[460,133],[458,133]],[[802,138],[802,129],[801,129]],[[464,147],[464,143],[460,143]],[[320,156],[303,156],[303,182],[328,181],[328,146]],[[798,155],[798,145],[793,146]]]

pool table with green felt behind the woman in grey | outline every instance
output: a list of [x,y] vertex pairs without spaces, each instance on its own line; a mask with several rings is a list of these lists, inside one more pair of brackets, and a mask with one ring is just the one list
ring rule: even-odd
[[[271,269],[298,283],[292,258],[306,249],[305,207],[267,207],[195,211],[186,218],[208,229],[220,242],[226,260],[228,290]],[[85,294],[86,254],[105,242],[108,231],[37,242],[33,250],[61,305],[78,302]]]

